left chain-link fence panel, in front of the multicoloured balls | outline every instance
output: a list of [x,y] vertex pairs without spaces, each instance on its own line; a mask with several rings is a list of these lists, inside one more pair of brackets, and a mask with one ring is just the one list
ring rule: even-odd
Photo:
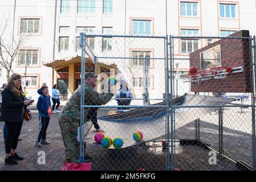
[[[84,51],[91,49],[93,54],[87,53],[91,59],[86,59],[85,72],[96,73],[96,90],[104,97],[103,102],[87,102],[90,96],[84,96],[84,110],[98,107],[88,114],[91,121],[97,117],[97,125],[91,126],[84,139],[85,154],[93,158],[92,170],[165,170],[166,154],[155,138],[162,141],[166,135],[166,37],[86,36]],[[111,98],[107,98],[109,90]],[[102,130],[108,138],[97,143],[95,134]],[[137,130],[142,140],[140,136],[135,140]]]

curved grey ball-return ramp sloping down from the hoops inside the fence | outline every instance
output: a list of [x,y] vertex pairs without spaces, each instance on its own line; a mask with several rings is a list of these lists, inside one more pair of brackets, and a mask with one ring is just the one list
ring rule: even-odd
[[[224,106],[232,101],[234,101],[233,98],[184,94],[184,96],[178,97],[174,100],[175,105],[216,107],[177,108],[175,111],[175,128],[178,129],[179,127],[182,127],[205,114],[211,113],[219,106]],[[165,102],[160,102],[155,105],[164,106]],[[135,130],[140,130],[143,133],[143,140],[141,142],[165,135],[165,116],[165,107],[141,107],[125,113],[106,115],[104,117],[97,118],[97,122],[99,123],[101,129],[105,131],[105,136],[111,139],[116,137],[123,139],[124,144],[122,148],[125,148],[139,143],[132,138],[132,134]],[[96,131],[94,127],[92,127],[91,122],[88,122],[86,133],[87,134],[84,137],[84,142],[101,147],[101,145],[97,144],[94,140]],[[110,148],[113,148],[113,146]]]

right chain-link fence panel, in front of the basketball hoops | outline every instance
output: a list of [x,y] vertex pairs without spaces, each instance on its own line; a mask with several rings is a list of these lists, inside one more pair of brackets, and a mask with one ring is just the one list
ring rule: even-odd
[[[173,96],[192,91],[214,96],[212,102],[217,97],[232,100],[178,129],[174,127],[174,148],[179,149],[174,152],[173,166],[186,170],[255,170],[255,59],[253,39],[246,33],[240,31],[225,38],[170,38]],[[180,65],[189,72],[182,72]],[[207,106],[197,100],[192,105],[200,110]],[[180,118],[174,117],[174,122],[176,119]]]

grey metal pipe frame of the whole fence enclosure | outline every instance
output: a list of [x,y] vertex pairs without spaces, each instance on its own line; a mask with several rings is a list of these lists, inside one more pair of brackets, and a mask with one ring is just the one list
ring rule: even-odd
[[[174,76],[174,60],[188,60],[184,58],[176,58],[174,56],[174,39],[222,39],[227,37],[216,37],[216,36],[172,36],[172,35],[166,35],[166,36],[133,36],[133,35],[95,35],[90,34],[86,35],[85,33],[80,34],[80,46],[82,46],[82,64],[81,64],[81,107],[80,107],[80,158],[82,161],[84,161],[84,142],[83,142],[83,126],[84,126],[84,108],[86,107],[119,107],[116,105],[112,106],[92,106],[92,105],[84,105],[84,98],[86,97],[84,94],[84,76],[85,76],[85,68],[86,68],[86,57],[91,57],[92,60],[95,62],[95,68],[97,66],[97,60],[100,58],[112,58],[112,59],[141,59],[138,57],[96,57],[94,53],[91,51],[90,47],[87,45],[86,38],[87,37],[102,37],[102,38],[156,38],[156,39],[162,39],[164,40],[164,55],[165,57],[156,58],[153,59],[163,59],[165,62],[165,105],[157,106],[157,107],[165,107],[166,109],[166,116],[165,116],[165,144],[167,150],[165,150],[165,169],[166,170],[173,170],[176,168],[176,144],[175,144],[175,123],[176,123],[176,109],[181,107],[198,107],[198,106],[176,106],[174,102],[174,97],[178,95],[176,93],[175,88],[175,76]],[[251,75],[251,104],[246,105],[248,107],[251,107],[252,111],[252,146],[253,146],[253,170],[256,170],[256,137],[255,137],[255,90],[256,90],[256,84],[255,76],[256,76],[256,41],[255,36],[253,38],[242,38],[242,37],[230,37],[230,39],[249,39],[250,42],[250,75]],[[150,59],[150,58],[149,58]],[[137,100],[143,100],[144,104],[141,105],[131,105],[131,106],[122,106],[122,107],[130,107],[130,108],[137,108],[137,107],[151,107],[149,103],[149,96],[148,96],[148,83],[147,83],[147,77],[148,77],[148,58],[144,58],[144,95],[143,98],[137,98]],[[97,69],[95,69],[96,71]],[[199,94],[199,93],[195,93]],[[221,96],[221,93],[220,93]],[[162,100],[162,99],[159,99]],[[224,107],[243,107],[245,105],[236,105],[236,106],[224,106]],[[154,106],[156,107],[156,106]],[[200,107],[208,107],[208,106],[200,106]],[[211,106],[213,107],[213,106]],[[218,110],[219,114],[219,151],[218,154],[220,156],[225,156],[223,154],[223,109],[224,107],[220,107]],[[200,119],[197,119],[195,121],[195,135],[194,139],[201,141],[200,137]],[[202,141],[203,142],[203,141]],[[170,151],[168,150],[170,148]],[[211,148],[213,150],[213,148]]]

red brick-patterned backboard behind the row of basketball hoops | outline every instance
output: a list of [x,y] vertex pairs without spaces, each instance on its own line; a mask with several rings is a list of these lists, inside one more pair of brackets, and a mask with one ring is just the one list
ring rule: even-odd
[[[249,31],[241,30],[230,36],[247,37]],[[248,39],[221,39],[204,48],[190,53],[190,67],[200,71],[200,53],[207,49],[221,45],[222,67],[243,67],[244,72],[231,73],[224,79],[191,82],[192,92],[250,92],[250,55]]]

